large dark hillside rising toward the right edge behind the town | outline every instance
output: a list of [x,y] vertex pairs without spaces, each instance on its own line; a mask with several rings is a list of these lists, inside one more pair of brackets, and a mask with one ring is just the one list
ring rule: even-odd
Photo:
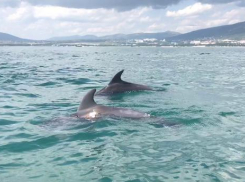
[[245,39],[245,22],[192,31],[170,37],[168,41],[191,41],[207,39]]

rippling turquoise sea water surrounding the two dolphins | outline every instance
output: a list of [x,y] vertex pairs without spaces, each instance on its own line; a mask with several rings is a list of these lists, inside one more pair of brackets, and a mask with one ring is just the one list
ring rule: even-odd
[[[163,122],[69,117],[121,69],[156,91],[97,103]],[[244,181],[245,48],[0,47],[0,73],[1,182]]]

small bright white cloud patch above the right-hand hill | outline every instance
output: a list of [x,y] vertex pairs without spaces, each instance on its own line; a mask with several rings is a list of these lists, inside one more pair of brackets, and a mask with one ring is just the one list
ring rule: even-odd
[[187,6],[184,9],[178,11],[167,11],[166,16],[168,17],[183,17],[203,13],[212,9],[210,4],[195,3],[191,6]]

